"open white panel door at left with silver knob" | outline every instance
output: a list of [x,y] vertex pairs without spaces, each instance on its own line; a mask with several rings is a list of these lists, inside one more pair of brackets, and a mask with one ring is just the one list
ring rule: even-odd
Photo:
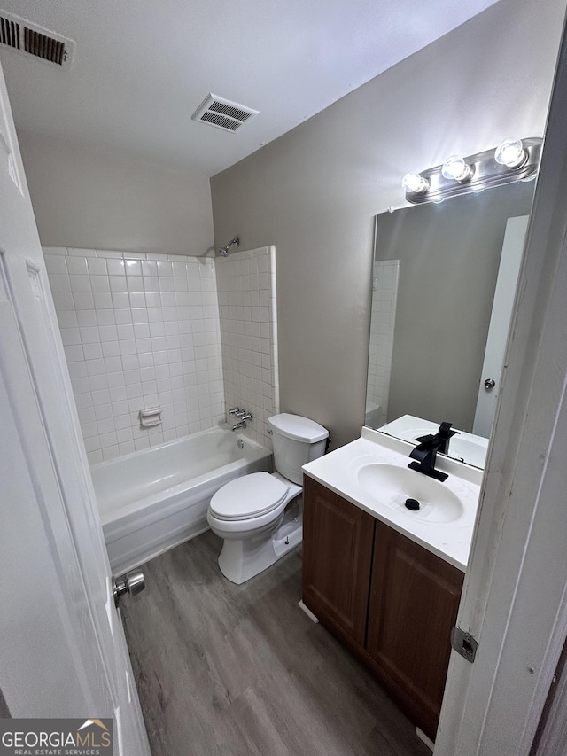
[[12,717],[114,719],[149,756],[0,68],[0,685]]

